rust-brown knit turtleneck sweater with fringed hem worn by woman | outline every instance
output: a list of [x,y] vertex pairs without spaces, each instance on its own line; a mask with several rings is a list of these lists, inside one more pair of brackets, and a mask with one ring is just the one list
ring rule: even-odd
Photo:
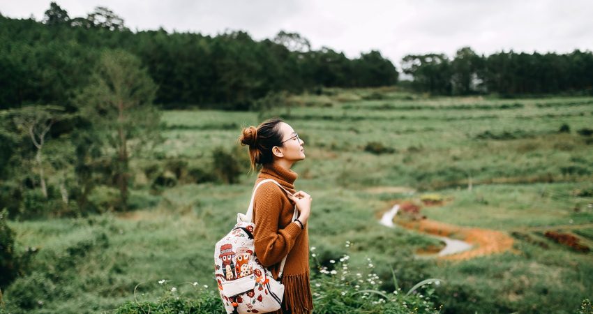
[[[263,179],[274,179],[295,193],[293,183],[296,177],[296,172],[285,170],[279,165],[264,165],[255,184]],[[313,310],[313,298],[309,283],[308,226],[305,225],[305,229],[301,230],[298,223],[292,223],[293,213],[294,204],[282,188],[273,182],[266,182],[257,188],[253,200],[255,255],[264,266],[271,269],[276,278],[280,262],[288,254],[282,276],[285,309],[295,314],[310,313]]]

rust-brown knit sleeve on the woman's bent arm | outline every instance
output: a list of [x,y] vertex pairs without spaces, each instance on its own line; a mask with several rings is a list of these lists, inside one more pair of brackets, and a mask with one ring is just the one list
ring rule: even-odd
[[301,227],[296,223],[289,223],[284,229],[278,229],[278,220],[284,206],[281,193],[284,192],[273,182],[262,184],[255,193],[255,255],[265,267],[280,262],[290,252],[296,237],[301,233]]

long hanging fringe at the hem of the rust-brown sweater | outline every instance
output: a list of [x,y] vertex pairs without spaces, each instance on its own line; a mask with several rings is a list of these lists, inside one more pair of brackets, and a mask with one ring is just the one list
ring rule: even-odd
[[309,273],[283,275],[285,309],[294,314],[308,314],[313,311],[313,297],[309,285]]

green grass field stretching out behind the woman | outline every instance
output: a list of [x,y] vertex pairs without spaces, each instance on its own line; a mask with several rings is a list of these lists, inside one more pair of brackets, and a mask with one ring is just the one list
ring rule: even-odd
[[[330,260],[349,255],[351,269],[375,272],[377,288],[389,291],[392,268],[407,289],[440,278],[433,300],[444,305],[441,313],[576,313],[583,299],[593,299],[593,253],[546,237],[569,233],[593,248],[593,98],[330,89],[295,96],[292,104],[290,113],[265,114],[283,117],[306,143],[307,158],[293,170],[296,188],[314,197],[312,265],[333,267]],[[134,300],[135,287],[139,300],[172,286],[186,297],[216,291],[213,246],[246,210],[255,181],[237,137],[242,126],[259,122],[255,112],[164,112],[165,142],[133,164],[137,210],[10,223],[17,249],[35,248],[31,274],[3,289],[10,313],[110,311]],[[142,176],[147,165],[171,159],[208,168],[220,146],[241,154],[239,184],[179,182],[154,193]],[[422,215],[502,231],[513,237],[513,249],[470,260],[414,257],[439,242],[377,220],[393,202],[429,193],[445,201],[422,207]]]

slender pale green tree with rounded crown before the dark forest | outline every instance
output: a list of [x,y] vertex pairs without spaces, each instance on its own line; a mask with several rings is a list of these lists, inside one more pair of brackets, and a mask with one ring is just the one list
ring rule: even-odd
[[154,84],[140,59],[123,50],[104,52],[91,83],[77,97],[82,115],[98,132],[96,141],[114,151],[119,210],[128,203],[128,164],[131,157],[158,139],[160,114],[153,105]]

